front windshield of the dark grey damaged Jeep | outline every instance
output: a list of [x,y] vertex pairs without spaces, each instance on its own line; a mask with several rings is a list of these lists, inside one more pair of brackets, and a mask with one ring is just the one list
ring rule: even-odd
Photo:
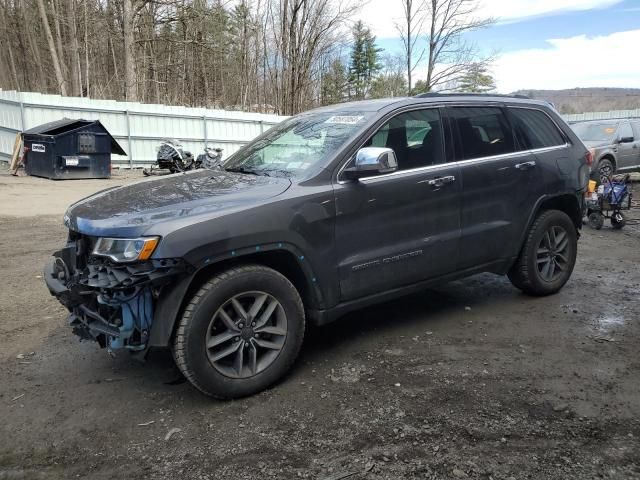
[[225,164],[225,170],[257,175],[300,177],[325,166],[364,125],[371,112],[308,113],[285,120],[250,143]]

